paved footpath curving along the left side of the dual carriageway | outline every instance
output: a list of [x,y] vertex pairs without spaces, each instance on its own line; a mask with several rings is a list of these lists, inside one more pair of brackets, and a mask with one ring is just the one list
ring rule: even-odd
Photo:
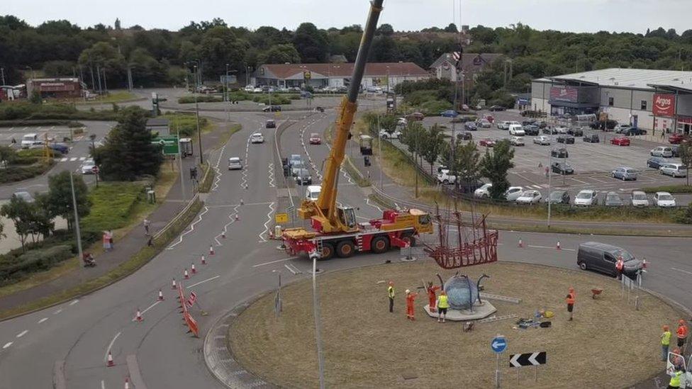
[[[231,123],[218,123],[217,127],[211,131],[211,133],[202,135],[202,149],[205,161],[208,155],[217,147],[218,142],[223,139],[223,133],[230,129],[230,125]],[[199,163],[199,153],[197,152],[199,149],[197,147],[199,146],[195,145],[194,156],[183,159],[185,196],[183,196],[182,183],[178,175],[165,200],[147,217],[151,221],[151,235],[154,235],[157,231],[165,227],[168,222],[185,207],[192,196],[194,196],[193,186],[189,180],[189,168],[199,166],[197,165]],[[201,171],[198,174],[200,173]],[[6,295],[0,298],[0,312],[21,308],[22,305],[27,305],[35,300],[46,298],[55,293],[67,291],[86,281],[103,276],[107,274],[108,271],[128,261],[130,257],[137,254],[140,249],[145,247],[148,241],[149,237],[145,235],[144,226],[140,222],[139,225],[135,226],[125,236],[115,237],[113,242],[114,249],[96,256],[95,267],[85,268],[84,266],[79,266],[77,269],[74,269],[74,271],[63,274],[52,281],[41,283],[33,288],[28,288],[11,295]],[[84,250],[87,251],[88,249],[84,247]]]

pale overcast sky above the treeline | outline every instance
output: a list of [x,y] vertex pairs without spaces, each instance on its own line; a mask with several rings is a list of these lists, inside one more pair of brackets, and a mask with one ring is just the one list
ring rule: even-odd
[[[0,0],[0,15],[14,15],[33,26],[59,19],[80,27],[113,26],[120,18],[123,28],[138,24],[178,30],[190,21],[223,18],[229,26],[293,30],[304,21],[318,28],[363,25],[368,6],[368,0]],[[380,23],[395,30],[521,22],[538,30],[645,33],[661,26],[682,33],[692,28],[691,14],[690,0],[385,0]]]

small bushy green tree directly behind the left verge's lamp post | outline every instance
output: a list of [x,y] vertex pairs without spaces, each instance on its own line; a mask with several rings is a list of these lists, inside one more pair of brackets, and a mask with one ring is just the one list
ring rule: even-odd
[[[89,215],[91,202],[89,201],[89,188],[84,183],[82,176],[73,176],[74,196],[77,199],[77,214],[79,218]],[[48,194],[39,198],[37,203],[47,210],[51,218],[62,216],[67,220],[67,229],[74,227],[74,206],[72,205],[72,186],[69,182],[69,171],[61,171],[48,177]]]

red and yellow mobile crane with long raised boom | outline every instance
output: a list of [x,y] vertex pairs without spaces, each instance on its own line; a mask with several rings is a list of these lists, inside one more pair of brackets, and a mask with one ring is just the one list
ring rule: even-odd
[[350,138],[359,87],[383,1],[373,0],[370,5],[348,94],[344,96],[339,108],[333,144],[325,162],[320,196],[317,201],[303,200],[298,208],[300,218],[310,219],[313,230],[289,228],[284,230],[281,237],[291,255],[316,253],[321,259],[330,259],[334,254],[342,258],[352,256],[355,252],[372,251],[381,254],[391,247],[413,246],[415,237],[421,233],[432,233],[432,220],[423,210],[384,210],[382,218],[359,223],[353,208],[337,207],[336,204],[339,170],[344,160],[346,142]]

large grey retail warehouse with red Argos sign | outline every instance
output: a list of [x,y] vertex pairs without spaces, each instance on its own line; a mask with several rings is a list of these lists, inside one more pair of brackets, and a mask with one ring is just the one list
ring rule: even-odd
[[654,134],[692,133],[692,72],[601,69],[535,79],[531,108],[549,115],[605,114]]

